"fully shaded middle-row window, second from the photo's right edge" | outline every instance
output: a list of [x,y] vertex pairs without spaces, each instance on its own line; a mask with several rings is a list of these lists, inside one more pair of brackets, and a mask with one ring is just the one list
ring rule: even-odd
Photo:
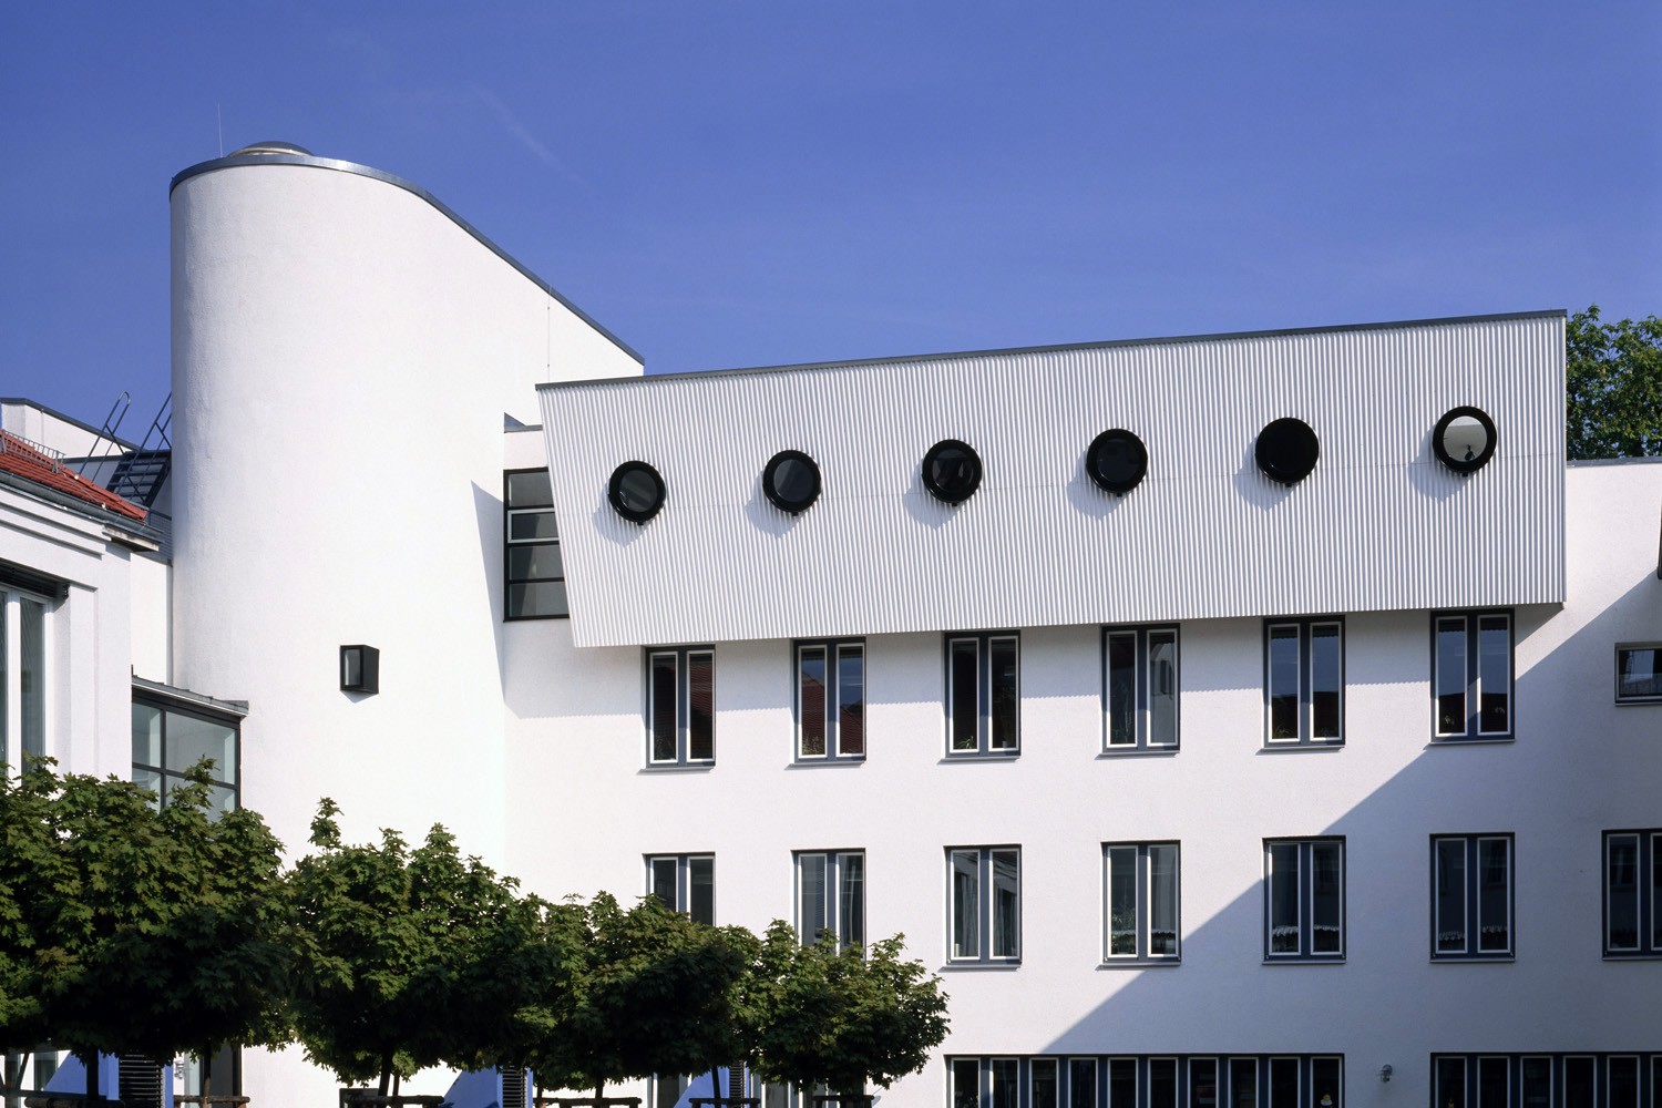
[[1512,836],[1431,839],[1431,957],[1512,957]]

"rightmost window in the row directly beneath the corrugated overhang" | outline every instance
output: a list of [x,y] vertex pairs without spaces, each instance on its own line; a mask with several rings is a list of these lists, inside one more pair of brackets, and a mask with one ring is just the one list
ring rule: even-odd
[[1436,738],[1512,738],[1511,613],[1438,613],[1431,618],[1431,653]]

